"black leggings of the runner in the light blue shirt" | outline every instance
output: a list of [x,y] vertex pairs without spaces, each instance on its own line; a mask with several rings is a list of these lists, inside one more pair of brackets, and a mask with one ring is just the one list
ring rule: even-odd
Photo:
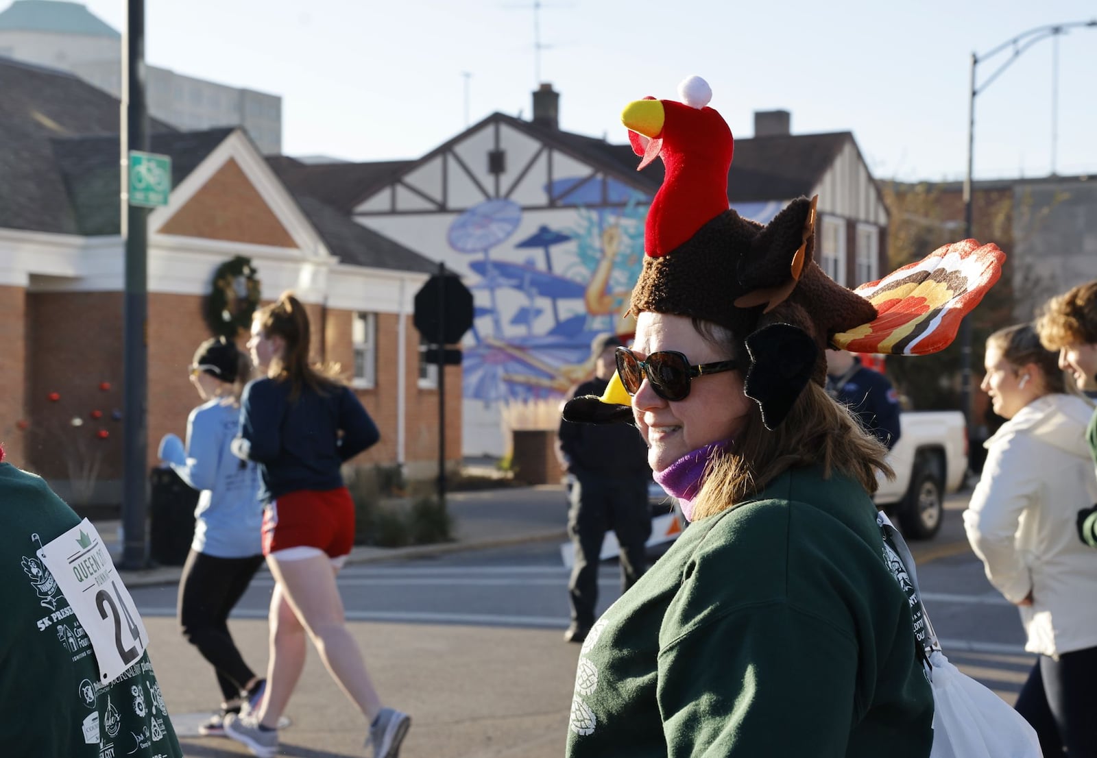
[[225,702],[240,697],[256,676],[233,642],[228,614],[262,563],[262,555],[216,558],[192,550],[183,564],[179,624],[186,641],[213,665]]

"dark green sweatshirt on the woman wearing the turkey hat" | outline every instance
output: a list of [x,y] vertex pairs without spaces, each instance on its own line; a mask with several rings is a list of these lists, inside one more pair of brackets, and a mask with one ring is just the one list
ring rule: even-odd
[[702,519],[595,624],[570,758],[925,758],[934,701],[863,488],[816,468]]

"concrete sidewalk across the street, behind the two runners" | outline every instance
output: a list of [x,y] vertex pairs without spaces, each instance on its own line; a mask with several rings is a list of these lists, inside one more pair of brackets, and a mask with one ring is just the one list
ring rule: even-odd
[[[453,519],[452,542],[410,547],[358,545],[347,563],[375,563],[528,542],[563,542],[567,539],[567,500],[562,485],[450,493],[445,504]],[[99,520],[94,524],[117,563],[121,556],[121,522],[116,519]],[[181,566],[158,566],[118,574],[127,587],[143,587],[176,584],[181,570]]]

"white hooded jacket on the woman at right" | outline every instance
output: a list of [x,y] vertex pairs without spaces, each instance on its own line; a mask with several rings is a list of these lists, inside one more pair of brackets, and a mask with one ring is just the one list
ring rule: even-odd
[[1056,656],[1097,646],[1097,551],[1075,528],[1097,502],[1097,476],[1085,429],[1093,409],[1082,398],[1045,395],[986,441],[986,463],[964,531],[986,578],[1019,608],[1026,649]]

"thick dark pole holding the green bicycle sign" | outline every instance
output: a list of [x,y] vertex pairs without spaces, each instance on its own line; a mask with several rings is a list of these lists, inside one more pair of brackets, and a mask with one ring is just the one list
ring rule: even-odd
[[122,56],[122,236],[125,238],[123,314],[122,567],[148,565],[148,211],[129,204],[129,151],[148,150],[145,105],[145,0],[127,0]]

